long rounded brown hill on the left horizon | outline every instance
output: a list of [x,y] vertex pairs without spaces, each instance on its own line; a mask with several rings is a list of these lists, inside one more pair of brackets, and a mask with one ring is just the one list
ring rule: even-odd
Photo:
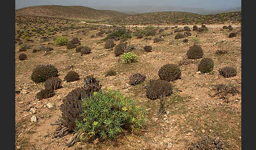
[[68,19],[103,19],[128,15],[113,10],[97,10],[85,6],[60,5],[31,6],[17,9],[15,13],[21,16],[45,16]]

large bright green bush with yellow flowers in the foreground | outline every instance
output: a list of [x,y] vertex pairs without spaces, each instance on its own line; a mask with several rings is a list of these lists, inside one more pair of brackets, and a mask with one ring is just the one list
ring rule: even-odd
[[90,139],[112,140],[125,129],[136,132],[143,128],[145,110],[119,91],[94,92],[93,97],[82,99],[81,103],[76,131],[85,132]]

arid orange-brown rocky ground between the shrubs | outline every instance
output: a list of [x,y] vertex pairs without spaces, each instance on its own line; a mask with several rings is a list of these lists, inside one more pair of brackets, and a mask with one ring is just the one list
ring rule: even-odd
[[[152,36],[151,40],[144,40],[144,37],[137,39],[134,36],[127,39],[129,44],[135,45],[133,52],[139,59],[137,62],[124,64],[120,57],[115,57],[113,51],[104,49],[105,42],[101,39],[106,37],[106,34],[103,34],[103,37],[91,38],[100,30],[111,30],[113,27],[47,17],[38,17],[34,23],[26,20],[28,18],[21,17],[19,22],[16,21],[15,89],[20,91],[15,95],[16,149],[188,149],[191,143],[200,142],[203,136],[221,140],[224,149],[241,149],[241,94],[228,95],[226,99],[210,96],[216,84],[233,83],[241,91],[241,25],[206,25],[209,29],[206,32],[191,31],[192,35],[187,37],[188,42],[183,42],[184,38],[174,39],[176,33],[173,33],[163,37],[164,41],[154,43],[153,38],[160,36],[159,29],[165,28],[158,27],[156,35]],[[223,29],[224,25],[232,25],[233,30]],[[172,33],[173,26],[166,26],[169,28],[163,33]],[[42,28],[45,32],[37,34],[32,31],[35,27]],[[142,26],[126,28],[132,31],[137,28],[143,29]],[[21,33],[20,37],[18,30]],[[27,34],[22,31],[27,31]],[[238,34],[229,38],[232,32]],[[30,37],[26,38],[27,35]],[[54,37],[63,35],[69,40],[77,37],[82,46],[92,49],[92,53],[81,56],[75,49],[67,50],[66,46],[55,45]],[[166,63],[179,64],[182,60],[188,60],[186,52],[193,45],[193,38],[196,35],[204,52],[203,58],[210,57],[214,61],[213,71],[199,73],[197,69],[201,59],[181,65],[181,79],[171,82],[174,90],[167,98],[167,114],[157,118],[159,100],[147,99],[144,86],[150,79],[159,79],[157,72]],[[43,36],[49,41],[40,40]],[[31,46],[24,52],[27,55],[26,60],[18,59],[21,53],[19,42]],[[119,44],[119,41],[114,42]],[[32,52],[42,45],[52,47],[53,50],[47,55],[45,51]],[[145,45],[151,45],[152,52],[145,52]],[[227,53],[216,55],[217,50],[227,50]],[[34,83],[31,74],[33,69],[42,63],[54,65],[62,80],[70,70],[80,74],[80,80],[63,81],[63,88],[56,90],[54,97],[37,100],[35,95],[44,88],[44,85]],[[237,68],[237,76],[221,76],[219,68],[224,66]],[[110,69],[117,72],[116,76],[105,77],[104,73]],[[129,77],[136,72],[145,74],[146,81],[135,86],[129,85]],[[72,134],[53,138],[56,126],[50,124],[61,115],[62,98],[73,89],[81,87],[83,79],[90,74],[100,80],[102,89],[110,87],[113,90],[121,90],[125,95],[131,95],[137,104],[146,108],[146,130],[137,135],[127,133],[116,141],[96,144],[78,142],[72,147],[65,146]],[[31,122],[32,116],[36,116],[37,122]]]

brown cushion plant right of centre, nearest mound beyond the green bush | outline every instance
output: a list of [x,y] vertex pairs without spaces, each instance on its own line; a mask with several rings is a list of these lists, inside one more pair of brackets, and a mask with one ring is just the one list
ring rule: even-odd
[[150,80],[146,85],[146,96],[151,100],[159,99],[161,96],[168,97],[172,94],[173,86],[165,80]]

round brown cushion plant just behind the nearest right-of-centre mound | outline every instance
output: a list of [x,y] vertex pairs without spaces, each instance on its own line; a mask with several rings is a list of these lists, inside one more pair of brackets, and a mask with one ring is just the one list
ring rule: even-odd
[[174,81],[181,78],[181,70],[178,65],[169,63],[159,69],[158,76],[162,80]]

